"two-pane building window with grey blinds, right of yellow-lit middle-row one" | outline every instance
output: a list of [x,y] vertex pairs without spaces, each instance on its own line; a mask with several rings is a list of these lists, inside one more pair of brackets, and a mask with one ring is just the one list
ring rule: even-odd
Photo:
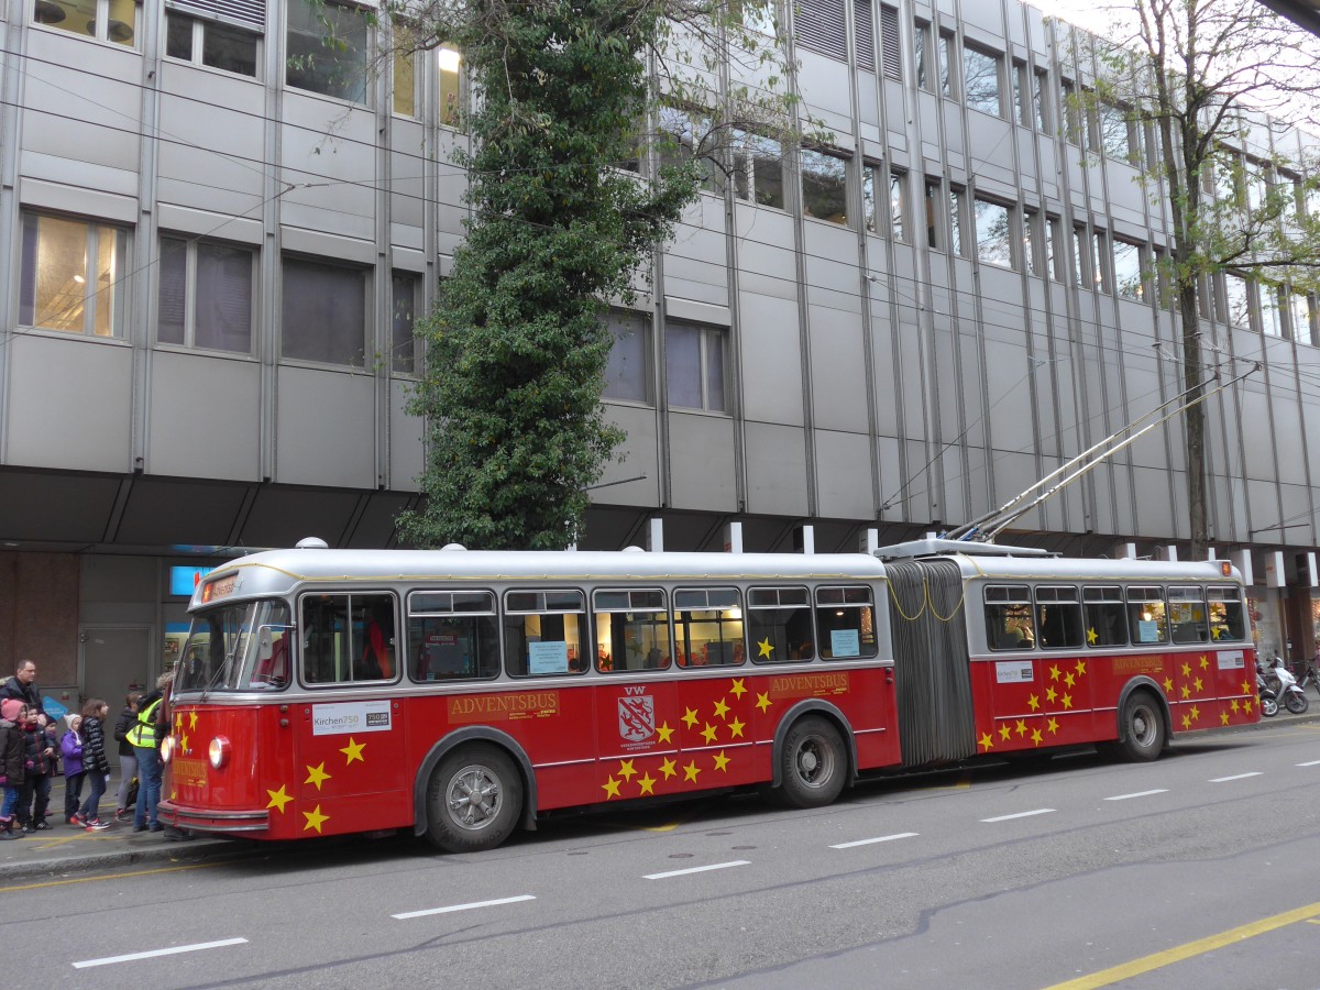
[[161,236],[156,341],[252,352],[252,248]]

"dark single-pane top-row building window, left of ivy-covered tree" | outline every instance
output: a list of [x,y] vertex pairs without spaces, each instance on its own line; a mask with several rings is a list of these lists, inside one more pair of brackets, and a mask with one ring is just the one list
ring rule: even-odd
[[[285,82],[323,96],[367,102],[367,16],[356,7],[327,0],[288,0]],[[327,34],[339,42],[326,45]]]

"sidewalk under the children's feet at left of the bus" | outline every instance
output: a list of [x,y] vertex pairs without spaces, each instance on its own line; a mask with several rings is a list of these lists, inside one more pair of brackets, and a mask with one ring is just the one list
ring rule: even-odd
[[[83,793],[86,796],[86,787]],[[114,821],[115,789],[102,808],[102,821]],[[65,824],[65,780],[50,788],[50,828],[22,838],[0,841],[0,888],[37,876],[59,876],[88,870],[114,870],[137,863],[169,863],[209,857],[243,855],[259,847],[249,840],[198,837],[172,841],[164,832],[133,832],[132,820],[104,832],[87,832]]]

